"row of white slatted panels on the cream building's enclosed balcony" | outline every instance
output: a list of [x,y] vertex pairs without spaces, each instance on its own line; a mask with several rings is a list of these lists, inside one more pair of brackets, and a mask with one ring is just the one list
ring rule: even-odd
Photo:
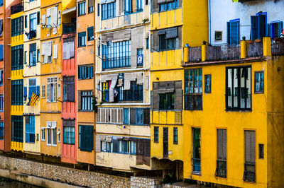
[[[125,108],[128,110],[128,108]],[[97,111],[97,123],[122,124],[124,119],[123,108],[99,108]]]

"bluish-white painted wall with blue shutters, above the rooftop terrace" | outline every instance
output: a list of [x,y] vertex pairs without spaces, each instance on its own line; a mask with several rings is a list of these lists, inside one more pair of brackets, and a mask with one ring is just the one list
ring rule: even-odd
[[[251,16],[255,16],[259,11],[267,12],[268,23],[275,20],[284,22],[284,0],[276,2],[274,0],[256,0],[246,3],[234,3],[232,0],[208,0],[208,4],[209,19],[211,15],[209,43],[212,45],[226,43],[226,22],[229,20],[240,19],[241,39],[245,36],[246,40],[249,40],[251,35]],[[222,31],[222,42],[214,41],[215,30]]]

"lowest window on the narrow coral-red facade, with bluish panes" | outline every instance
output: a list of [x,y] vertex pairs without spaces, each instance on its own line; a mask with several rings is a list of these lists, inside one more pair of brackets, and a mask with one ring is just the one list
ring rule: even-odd
[[75,120],[63,120],[63,143],[75,145]]

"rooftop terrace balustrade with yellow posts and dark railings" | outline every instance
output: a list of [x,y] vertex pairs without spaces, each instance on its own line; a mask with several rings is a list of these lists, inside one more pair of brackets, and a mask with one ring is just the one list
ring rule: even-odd
[[202,61],[236,61],[238,59],[258,59],[270,55],[284,55],[284,39],[263,37],[258,40],[242,40],[240,45],[202,45],[185,47],[185,64],[200,64]]

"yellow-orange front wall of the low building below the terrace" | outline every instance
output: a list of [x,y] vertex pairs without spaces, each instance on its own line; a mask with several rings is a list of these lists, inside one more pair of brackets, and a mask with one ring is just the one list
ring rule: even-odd
[[[267,64],[266,61],[251,64],[251,112],[226,112],[225,86],[226,66],[249,64],[222,64],[202,67],[204,75],[212,75],[212,93],[205,94],[203,87],[203,110],[184,110],[184,177],[226,184],[236,187],[266,187],[267,181]],[[192,68],[198,68],[192,67]],[[264,94],[254,94],[254,71],[264,71]],[[192,127],[201,129],[201,175],[192,175]],[[217,129],[227,129],[227,177],[215,177],[217,161]],[[244,130],[256,131],[256,184],[243,181]],[[264,144],[264,159],[258,159],[258,143]]]

